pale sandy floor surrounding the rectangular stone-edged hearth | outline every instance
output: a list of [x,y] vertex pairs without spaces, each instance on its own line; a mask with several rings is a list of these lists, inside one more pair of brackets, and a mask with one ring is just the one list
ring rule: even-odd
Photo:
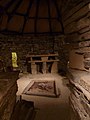
[[[51,98],[22,94],[25,87],[32,80],[55,80],[56,86],[60,90],[60,96],[58,98]],[[20,75],[17,83],[17,99],[19,99],[20,95],[22,95],[22,99],[34,101],[36,108],[35,120],[70,120],[70,90],[67,87],[69,81],[66,77],[62,77],[59,74],[22,74]]]

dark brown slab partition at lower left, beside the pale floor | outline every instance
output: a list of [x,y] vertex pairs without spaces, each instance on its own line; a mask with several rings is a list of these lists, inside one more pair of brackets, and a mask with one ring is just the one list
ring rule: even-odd
[[10,120],[16,104],[18,72],[0,73],[0,120]]

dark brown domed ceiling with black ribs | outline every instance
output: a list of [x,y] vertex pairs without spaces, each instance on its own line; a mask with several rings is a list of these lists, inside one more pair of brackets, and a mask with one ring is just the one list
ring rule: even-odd
[[60,0],[0,0],[0,33],[63,34]]

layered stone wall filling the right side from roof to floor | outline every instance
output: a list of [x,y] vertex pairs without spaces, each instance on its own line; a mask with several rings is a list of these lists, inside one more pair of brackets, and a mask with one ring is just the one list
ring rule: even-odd
[[62,17],[65,42],[69,51],[71,120],[89,120],[90,0],[75,1],[67,4]]

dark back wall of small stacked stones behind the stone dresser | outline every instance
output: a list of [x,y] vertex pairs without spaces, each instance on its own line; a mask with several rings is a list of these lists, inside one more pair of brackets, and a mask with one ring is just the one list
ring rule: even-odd
[[[64,36],[3,36],[0,37],[0,55],[3,57],[5,67],[11,66],[11,53],[16,52],[18,66],[21,71],[26,69],[27,54],[59,53],[59,69],[64,64],[63,51]],[[64,67],[63,67],[64,68]]]

